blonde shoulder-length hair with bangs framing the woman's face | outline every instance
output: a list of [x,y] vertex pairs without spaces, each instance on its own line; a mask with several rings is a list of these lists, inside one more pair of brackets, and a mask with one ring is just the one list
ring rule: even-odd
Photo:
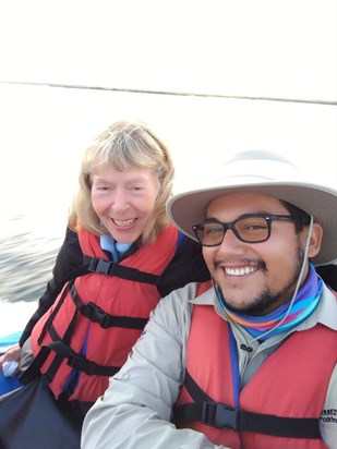
[[160,184],[156,205],[141,243],[152,243],[167,227],[166,203],[172,195],[174,167],[167,146],[142,122],[116,122],[99,134],[84,153],[79,175],[79,190],[73,198],[69,227],[80,226],[96,235],[107,234],[92,204],[93,173],[99,165],[112,165],[119,171],[131,168],[154,170]]

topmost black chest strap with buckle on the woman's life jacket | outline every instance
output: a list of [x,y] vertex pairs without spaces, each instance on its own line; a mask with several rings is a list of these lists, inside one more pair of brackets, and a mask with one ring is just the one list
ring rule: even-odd
[[145,282],[157,286],[160,276],[151,272],[140,271],[135,268],[125,267],[115,262],[105,260],[104,258],[83,256],[85,264],[88,264],[88,270],[99,275],[116,276],[118,278]]

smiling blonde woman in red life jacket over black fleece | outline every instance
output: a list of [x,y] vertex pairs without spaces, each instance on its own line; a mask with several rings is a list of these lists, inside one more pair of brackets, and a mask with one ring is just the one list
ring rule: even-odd
[[21,359],[24,384],[41,373],[57,399],[94,402],[159,299],[208,278],[198,244],[166,215],[173,173],[143,123],[113,123],[87,148],[53,277],[2,359]]

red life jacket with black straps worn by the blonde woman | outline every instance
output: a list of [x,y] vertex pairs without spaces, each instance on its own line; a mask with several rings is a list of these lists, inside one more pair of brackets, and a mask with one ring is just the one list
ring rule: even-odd
[[167,227],[154,244],[119,264],[108,260],[98,236],[81,230],[79,240],[94,271],[68,282],[36,324],[35,361],[23,377],[38,369],[57,398],[95,401],[160,299],[156,281],[176,254],[178,231]]

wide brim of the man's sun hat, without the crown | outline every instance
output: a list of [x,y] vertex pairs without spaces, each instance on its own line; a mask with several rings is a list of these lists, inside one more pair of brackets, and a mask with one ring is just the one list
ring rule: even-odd
[[196,240],[192,226],[205,219],[207,206],[213,199],[248,191],[282,199],[312,215],[314,221],[323,227],[323,240],[320,253],[311,262],[314,265],[327,265],[337,260],[337,196],[336,191],[326,186],[296,182],[264,182],[194,190],[172,196],[168,201],[167,211],[178,229]]

